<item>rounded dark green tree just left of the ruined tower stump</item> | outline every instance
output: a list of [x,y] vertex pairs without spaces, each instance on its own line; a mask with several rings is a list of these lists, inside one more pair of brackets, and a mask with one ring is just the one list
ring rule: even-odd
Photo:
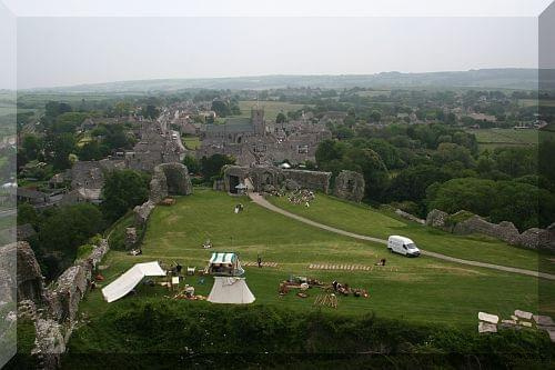
[[133,170],[114,170],[105,174],[101,210],[104,218],[115,221],[149,198],[149,177]]

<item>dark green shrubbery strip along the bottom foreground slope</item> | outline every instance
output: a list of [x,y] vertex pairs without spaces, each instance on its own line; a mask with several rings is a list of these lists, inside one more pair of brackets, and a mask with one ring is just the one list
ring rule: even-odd
[[[123,357],[117,357],[119,361],[122,358],[137,361],[127,362],[129,367],[143,364],[145,353],[181,353],[194,357],[195,361],[212,358],[208,353],[235,353],[239,359],[235,366],[246,366],[254,359],[265,366],[295,359],[306,366],[313,359],[325,362],[347,356],[347,362],[343,363],[346,364],[360,360],[352,353],[402,354],[395,361],[404,363],[403,368],[428,364],[457,368],[468,358],[475,361],[472,366],[480,363],[484,368],[541,367],[555,354],[546,333],[535,330],[501,330],[497,334],[481,336],[475,331],[424,327],[371,314],[345,317],[320,310],[299,313],[268,306],[230,307],[154,299],[115,303],[80,327],[73,332],[64,366],[71,368],[84,360],[72,353],[114,352],[122,353]],[[262,353],[282,356],[261,359]],[[317,357],[322,353],[330,357]],[[163,359],[171,361],[172,357],[165,354]]]

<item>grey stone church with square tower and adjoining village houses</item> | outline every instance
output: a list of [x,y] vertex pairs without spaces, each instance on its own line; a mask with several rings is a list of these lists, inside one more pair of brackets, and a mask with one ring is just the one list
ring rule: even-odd
[[264,111],[253,108],[251,118],[229,118],[224,124],[205,124],[198,158],[232,156],[241,166],[315,161],[317,144],[331,138],[324,124],[307,120],[269,123]]

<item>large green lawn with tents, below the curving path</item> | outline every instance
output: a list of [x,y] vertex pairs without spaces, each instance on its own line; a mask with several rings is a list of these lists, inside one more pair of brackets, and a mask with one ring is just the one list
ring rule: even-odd
[[[245,204],[245,210],[234,214],[233,207],[238,202]],[[319,209],[316,203],[311,210]],[[350,207],[354,213],[359,212],[356,207]],[[334,209],[326,211],[333,212]],[[380,220],[382,223],[376,224],[376,228],[403,227],[402,222],[393,219],[383,217]],[[366,221],[361,219],[357,223]],[[213,242],[212,250],[201,248],[208,238]],[[443,234],[436,236],[437,240],[442,238]],[[382,244],[326,232],[269,211],[245,198],[232,198],[211,190],[195,189],[193,196],[179,198],[172,207],[157,207],[149,221],[142,250],[140,257],[111,251],[102,262],[109,266],[102,271],[105,282],[112,281],[137,262],[160,260],[169,264],[179,261],[185,267],[202,268],[212,251],[234,251],[243,261],[255,261],[260,254],[264,261],[279,263],[278,268],[245,268],[246,281],[256,297],[254,304],[315,310],[313,301],[319,292],[316,289],[309,291],[307,299],[297,298],[294,293],[280,298],[279,283],[291,274],[310,276],[326,282],[336,279],[370,291],[370,299],[341,297],[336,311],[342,314],[374,312],[384,318],[416,323],[446,323],[468,330],[475,330],[480,310],[507,317],[515,309],[535,312],[538,304],[538,283],[534,278],[446,263],[426,257],[408,259],[390,254]],[[519,251],[513,252],[518,256]],[[310,263],[370,266],[380,258],[387,258],[386,269],[374,269],[372,272],[307,269]],[[194,286],[198,293],[208,294],[212,280],[199,284],[198,279],[186,278],[185,282]],[[553,288],[554,284],[549,281],[545,287]],[[110,304],[169,299],[169,294],[162,287],[140,286],[138,294]],[[174,302],[210,304],[199,301]],[[85,297],[80,309],[84,316],[92,317],[101,314],[108,307],[100,290],[94,290]]]

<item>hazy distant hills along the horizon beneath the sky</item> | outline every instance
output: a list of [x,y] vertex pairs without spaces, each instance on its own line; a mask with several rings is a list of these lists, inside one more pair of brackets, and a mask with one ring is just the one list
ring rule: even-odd
[[43,88],[26,91],[68,93],[148,93],[170,92],[184,89],[278,89],[278,88],[484,88],[484,89],[537,89],[537,69],[478,69],[453,72],[375,74],[321,74],[321,76],[259,76],[203,79],[160,79],[79,84]]

